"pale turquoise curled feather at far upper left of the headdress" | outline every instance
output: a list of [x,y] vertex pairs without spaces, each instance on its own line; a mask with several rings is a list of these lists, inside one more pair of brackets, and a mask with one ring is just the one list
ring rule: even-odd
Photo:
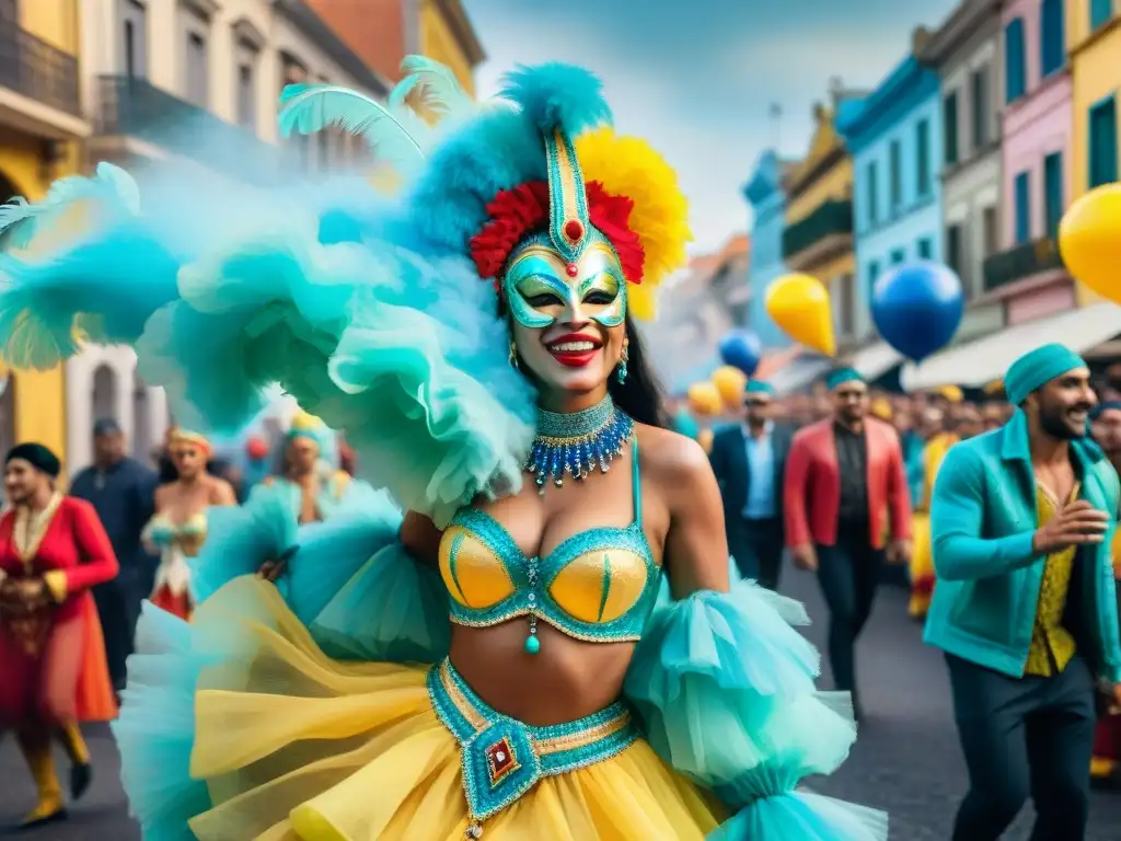
[[314,135],[334,126],[365,138],[388,163],[411,169],[423,163],[424,148],[405,126],[406,120],[364,93],[339,85],[288,85],[280,94],[284,137]]

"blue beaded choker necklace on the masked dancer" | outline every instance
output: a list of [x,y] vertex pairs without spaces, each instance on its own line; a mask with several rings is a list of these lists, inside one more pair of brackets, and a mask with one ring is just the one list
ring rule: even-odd
[[565,475],[580,481],[596,466],[606,473],[633,434],[634,422],[615,408],[610,395],[592,408],[571,415],[538,409],[537,437],[526,470],[537,477],[541,493],[547,479],[559,488]]

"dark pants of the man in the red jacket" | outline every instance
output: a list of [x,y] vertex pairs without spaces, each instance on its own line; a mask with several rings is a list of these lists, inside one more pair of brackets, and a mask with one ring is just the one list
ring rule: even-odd
[[883,570],[883,549],[868,539],[864,524],[837,530],[834,546],[817,546],[817,583],[830,609],[830,666],[833,685],[856,699],[856,638],[868,623]]

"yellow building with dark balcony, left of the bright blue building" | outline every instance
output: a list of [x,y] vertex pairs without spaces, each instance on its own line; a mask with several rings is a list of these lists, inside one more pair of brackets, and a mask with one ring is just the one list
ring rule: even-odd
[[852,158],[834,127],[843,94],[814,105],[817,126],[806,157],[787,173],[782,258],[790,271],[813,275],[828,288],[839,343],[855,333],[856,255],[852,242]]

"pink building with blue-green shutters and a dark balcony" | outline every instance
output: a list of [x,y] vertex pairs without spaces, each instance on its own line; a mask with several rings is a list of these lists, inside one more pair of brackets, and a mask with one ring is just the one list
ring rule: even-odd
[[1055,242],[1072,178],[1063,7],[1056,0],[1012,0],[1001,12],[1003,220],[1001,250],[984,262],[984,288],[985,297],[1004,303],[1008,324],[1075,305],[1074,283]]

